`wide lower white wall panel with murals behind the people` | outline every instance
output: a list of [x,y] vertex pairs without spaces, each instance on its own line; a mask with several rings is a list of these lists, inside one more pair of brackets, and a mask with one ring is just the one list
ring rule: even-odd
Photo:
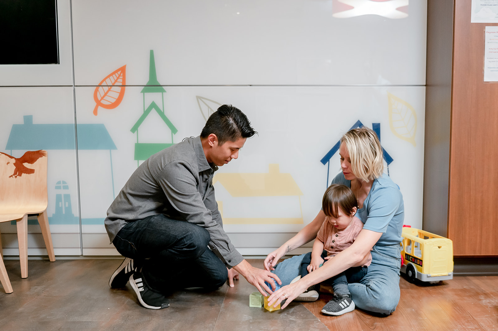
[[[94,237],[84,240],[84,249],[99,249],[100,254],[109,249],[102,226],[106,211],[141,162],[134,159],[137,134],[130,128],[148,105],[143,104],[142,87],[126,87],[117,108],[99,110],[96,116],[94,90],[95,87],[76,88],[77,123],[105,126],[116,145],[111,152],[79,150],[82,223],[100,224],[100,228],[89,227],[88,234]],[[332,155],[329,164],[321,160],[357,121],[369,127],[378,123],[375,125],[379,127],[381,144],[392,158],[386,172],[404,197],[405,224],[421,226],[425,87],[165,87],[164,113],[178,132],[171,141],[168,126],[150,112],[147,118],[153,120],[142,122],[138,141],[143,142],[143,131],[155,132],[156,140],[152,134],[147,137],[152,140],[147,142],[157,143],[177,143],[199,135],[205,123],[203,111],[207,110],[206,104],[198,103],[199,96],[210,100],[207,104],[212,107],[231,103],[240,108],[259,132],[248,139],[237,160],[220,168],[221,177],[215,178],[214,184],[224,227],[229,234],[237,235],[247,254],[255,254],[256,250],[268,253],[285,241],[283,236],[313,220],[321,208],[323,192],[340,171],[338,153]],[[406,138],[399,137],[403,133],[400,130],[406,127],[389,117],[389,103],[394,102],[412,117],[408,125],[412,130]],[[397,128],[391,128],[390,123]],[[264,193],[265,183],[258,186],[257,181],[272,165],[278,165],[279,173],[289,174],[301,193]],[[242,193],[242,197],[234,198],[223,180],[223,174],[234,173],[253,176],[250,184],[256,191],[264,191],[262,195],[244,197]],[[288,210],[297,210],[297,217],[288,215]],[[274,240],[268,240],[268,234]],[[249,241],[252,247],[248,247]]]

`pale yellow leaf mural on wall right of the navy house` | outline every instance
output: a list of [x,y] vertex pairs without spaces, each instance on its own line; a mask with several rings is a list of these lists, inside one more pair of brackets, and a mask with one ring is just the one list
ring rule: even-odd
[[415,143],[417,132],[417,114],[413,107],[406,101],[387,92],[389,104],[389,126],[392,133],[398,138]]

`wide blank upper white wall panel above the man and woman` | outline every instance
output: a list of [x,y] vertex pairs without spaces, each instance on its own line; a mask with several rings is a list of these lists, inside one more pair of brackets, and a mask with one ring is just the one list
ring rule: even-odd
[[424,85],[426,4],[393,19],[334,17],[337,0],[73,0],[75,81],[126,65],[143,85],[153,49],[164,85]]

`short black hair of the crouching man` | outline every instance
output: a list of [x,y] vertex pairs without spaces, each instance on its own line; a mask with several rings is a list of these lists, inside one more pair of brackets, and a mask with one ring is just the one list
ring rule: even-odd
[[250,126],[248,117],[242,110],[232,105],[223,105],[209,116],[201,132],[201,138],[211,133],[218,137],[218,144],[252,137],[256,131]]

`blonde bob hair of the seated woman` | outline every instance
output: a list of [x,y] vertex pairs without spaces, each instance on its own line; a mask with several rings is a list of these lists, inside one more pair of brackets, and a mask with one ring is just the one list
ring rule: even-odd
[[384,159],[377,134],[366,126],[349,130],[341,138],[351,159],[351,170],[356,178],[369,182],[382,176]]

